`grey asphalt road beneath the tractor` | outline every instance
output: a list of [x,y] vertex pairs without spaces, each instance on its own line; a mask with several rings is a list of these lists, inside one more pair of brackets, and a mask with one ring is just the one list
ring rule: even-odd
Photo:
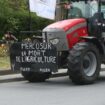
[[0,83],[0,105],[105,105],[105,72],[92,85],[74,85],[66,77],[44,83]]

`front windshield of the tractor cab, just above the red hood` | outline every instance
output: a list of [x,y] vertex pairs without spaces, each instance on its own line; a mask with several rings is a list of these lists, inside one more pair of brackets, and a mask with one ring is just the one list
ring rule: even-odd
[[68,9],[68,18],[89,18],[98,12],[97,0],[71,2]]

